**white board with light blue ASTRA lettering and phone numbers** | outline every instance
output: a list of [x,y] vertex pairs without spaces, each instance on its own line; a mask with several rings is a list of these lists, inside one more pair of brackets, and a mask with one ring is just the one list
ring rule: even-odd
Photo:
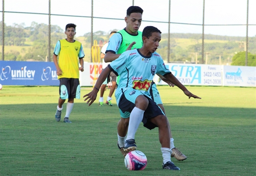
[[[222,66],[203,64],[166,64],[184,85],[222,85]],[[166,84],[160,81],[159,84]]]

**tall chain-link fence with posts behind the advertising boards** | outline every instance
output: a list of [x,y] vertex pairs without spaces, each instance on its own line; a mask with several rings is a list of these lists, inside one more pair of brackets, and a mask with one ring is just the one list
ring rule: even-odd
[[[75,23],[75,40],[83,45],[84,61],[91,62],[93,41],[104,44],[110,31],[123,29],[126,9],[136,5],[144,10],[140,30],[156,26],[162,31],[157,52],[166,62],[256,66],[254,0],[194,0],[193,6],[189,1],[2,0],[0,58],[52,62],[56,42],[66,37],[66,24]],[[234,3],[243,10],[227,12]]]

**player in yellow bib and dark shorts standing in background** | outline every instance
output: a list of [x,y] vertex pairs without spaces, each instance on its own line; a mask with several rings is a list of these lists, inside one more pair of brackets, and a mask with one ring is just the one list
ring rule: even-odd
[[[74,98],[80,99],[79,70],[83,72],[84,52],[82,44],[74,40],[75,27],[75,24],[66,25],[65,34],[67,38],[59,40],[53,52],[53,62],[56,66],[58,79],[60,80],[60,98],[55,119],[60,121],[62,105],[68,99],[64,118],[65,123],[72,123],[69,121],[69,115],[73,109]],[[59,62],[57,56],[59,56]],[[81,67],[79,67],[79,63]]]

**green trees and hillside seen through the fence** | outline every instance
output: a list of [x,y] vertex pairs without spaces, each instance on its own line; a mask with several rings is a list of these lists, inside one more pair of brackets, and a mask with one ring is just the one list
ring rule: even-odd
[[[2,29],[0,30],[0,42],[2,43]],[[8,50],[5,52],[5,60],[38,60],[38,55],[47,55],[48,50],[48,25],[38,24],[32,22],[31,26],[26,27],[24,23],[13,24],[12,26],[4,26],[4,45],[17,46],[21,48],[18,50]],[[56,41],[65,38],[64,29],[56,25],[51,25],[51,51],[53,53]],[[158,47],[158,53],[162,55],[163,59],[167,59],[168,49],[168,34],[162,33],[162,41]],[[83,47],[90,49],[90,33],[83,35]],[[93,33],[93,40],[100,40],[105,43],[109,38],[109,32],[97,31]],[[202,34],[197,33],[171,33],[170,34],[170,61],[171,62],[196,62],[196,55],[198,62],[201,62],[202,51]],[[187,39],[188,46],[182,47],[177,39]],[[188,40],[189,39],[189,40]],[[205,42],[204,53],[207,54],[208,64],[218,64],[221,57],[222,64],[230,62],[231,65],[245,65],[245,37],[230,37],[219,36],[212,34],[205,34],[206,40],[223,40],[223,42]],[[256,66],[256,36],[248,38],[248,66]],[[90,51],[90,50],[88,50]],[[90,55],[90,53],[85,53]],[[90,62],[90,60],[88,60]],[[206,62],[206,61],[205,61]],[[205,63],[204,62],[204,63]]]

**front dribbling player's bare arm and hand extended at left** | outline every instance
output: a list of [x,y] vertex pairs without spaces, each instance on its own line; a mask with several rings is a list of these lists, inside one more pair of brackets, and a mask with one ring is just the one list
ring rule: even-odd
[[108,77],[110,72],[111,72],[111,70],[109,69],[108,66],[104,70],[102,70],[102,73],[99,75],[98,80],[96,81],[94,89],[90,93],[88,93],[86,95],[83,95],[83,98],[85,98],[84,101],[88,100],[86,102],[87,104],[89,103],[88,106],[90,106],[95,101],[95,99],[97,98],[97,94],[99,92],[99,89],[100,89],[102,83]]

